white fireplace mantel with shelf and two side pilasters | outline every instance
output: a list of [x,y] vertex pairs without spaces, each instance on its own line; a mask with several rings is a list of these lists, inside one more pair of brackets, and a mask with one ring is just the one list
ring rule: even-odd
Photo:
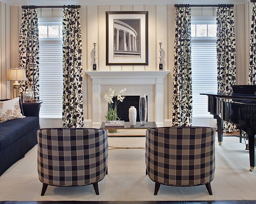
[[155,122],[164,125],[164,78],[170,71],[86,71],[93,83],[92,127],[101,125],[101,85],[154,85]]

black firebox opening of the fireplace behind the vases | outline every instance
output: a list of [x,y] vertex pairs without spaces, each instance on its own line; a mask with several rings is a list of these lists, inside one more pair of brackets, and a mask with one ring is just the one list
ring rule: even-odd
[[[146,98],[147,98],[147,107],[148,107],[148,96],[146,96]],[[120,120],[129,122],[129,108],[131,106],[134,106],[137,110],[136,121],[140,122],[139,104],[140,104],[140,96],[125,96],[125,99],[123,100],[123,102],[119,102],[117,106],[117,115],[120,118]],[[148,121],[148,115],[147,115],[147,121]]]

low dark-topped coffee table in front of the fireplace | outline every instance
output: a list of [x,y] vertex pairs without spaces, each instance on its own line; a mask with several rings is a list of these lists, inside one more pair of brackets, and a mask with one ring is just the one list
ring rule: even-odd
[[[138,129],[150,129],[150,128],[156,128],[157,124],[155,122],[146,122],[145,125],[140,125],[140,122],[136,122],[136,125],[130,125],[130,122],[125,122],[125,127],[105,127],[105,122],[102,122],[100,128],[101,129],[116,129],[116,130],[138,130]],[[113,147],[113,146],[109,146],[111,147],[110,150],[114,150],[114,149],[143,149],[145,150],[145,147]]]

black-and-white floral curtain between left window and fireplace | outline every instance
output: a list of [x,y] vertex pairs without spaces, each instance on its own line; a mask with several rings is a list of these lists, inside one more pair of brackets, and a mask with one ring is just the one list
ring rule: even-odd
[[63,127],[84,127],[79,8],[63,9]]

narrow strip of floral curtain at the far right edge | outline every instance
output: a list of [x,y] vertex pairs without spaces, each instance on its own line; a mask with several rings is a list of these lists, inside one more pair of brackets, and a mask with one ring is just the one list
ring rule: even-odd
[[253,2],[252,25],[250,34],[249,84],[256,85],[256,1]]

